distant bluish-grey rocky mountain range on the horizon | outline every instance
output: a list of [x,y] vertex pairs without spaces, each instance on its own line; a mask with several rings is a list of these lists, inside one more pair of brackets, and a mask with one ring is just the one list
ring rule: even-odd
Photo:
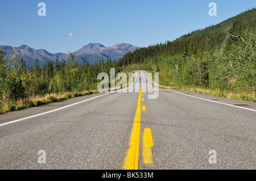
[[[97,60],[100,60],[101,57],[103,57],[104,60],[110,58],[112,60],[118,60],[118,58],[122,57],[127,52],[133,52],[138,48],[139,47],[127,43],[115,44],[111,47],[105,47],[100,43],[90,43],[73,52],[73,54],[76,56],[75,61],[85,61],[93,64]],[[3,52],[6,52],[5,57],[8,59],[14,58],[15,56],[18,58],[22,57],[23,60],[25,60],[27,67],[34,66],[36,59],[41,66],[46,63],[46,61],[55,64],[57,54],[60,61],[67,60],[69,57],[68,53],[49,53],[45,49],[35,50],[27,45],[22,45],[20,47],[1,45],[0,49],[3,49]]]

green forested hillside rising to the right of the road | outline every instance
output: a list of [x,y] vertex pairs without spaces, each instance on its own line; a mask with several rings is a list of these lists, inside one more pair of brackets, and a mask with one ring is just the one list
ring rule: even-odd
[[252,9],[175,41],[127,53],[117,65],[123,70],[159,71],[177,86],[254,94],[255,42],[256,10]]

